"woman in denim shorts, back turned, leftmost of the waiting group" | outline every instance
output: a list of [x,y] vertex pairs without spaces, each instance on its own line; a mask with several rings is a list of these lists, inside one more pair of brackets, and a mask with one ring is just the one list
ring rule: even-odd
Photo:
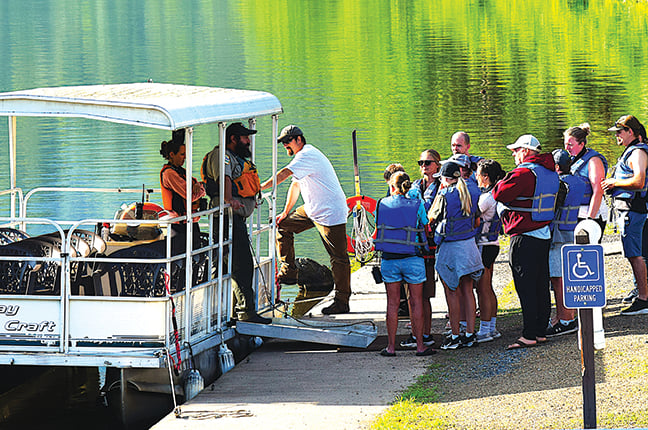
[[381,251],[380,270],[387,290],[387,347],[385,357],[396,355],[396,330],[401,282],[409,285],[410,318],[416,337],[416,355],[436,351],[423,343],[423,282],[425,265],[418,254],[425,245],[423,227],[427,224],[425,207],[419,199],[408,199],[412,182],[405,172],[394,172],[389,178],[389,197],[380,199],[376,208],[376,250]]

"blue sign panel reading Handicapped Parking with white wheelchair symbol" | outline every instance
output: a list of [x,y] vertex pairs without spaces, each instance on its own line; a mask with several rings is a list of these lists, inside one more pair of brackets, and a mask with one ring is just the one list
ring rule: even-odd
[[601,245],[563,245],[563,297],[565,307],[605,306],[605,276]]

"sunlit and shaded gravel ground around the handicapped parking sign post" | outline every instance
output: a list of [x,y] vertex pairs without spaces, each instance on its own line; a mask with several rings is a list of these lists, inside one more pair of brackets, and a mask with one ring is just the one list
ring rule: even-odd
[[[618,240],[606,237],[606,241]],[[519,308],[511,293],[507,249],[495,265],[494,286],[506,308]],[[630,265],[620,254],[605,257],[606,347],[596,351],[596,405],[600,427],[648,427],[648,315],[621,316],[621,298],[632,289]],[[500,303],[500,309],[502,308]],[[520,334],[521,315],[498,317],[502,338],[479,348],[442,351],[440,400],[455,428],[582,428],[581,356],[575,334],[534,348],[506,351]],[[442,358],[439,357],[439,358]],[[450,358],[451,357],[451,358]]]

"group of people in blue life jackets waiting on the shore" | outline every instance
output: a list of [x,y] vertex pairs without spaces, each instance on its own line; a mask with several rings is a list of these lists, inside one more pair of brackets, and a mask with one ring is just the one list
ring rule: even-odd
[[589,124],[567,129],[564,149],[552,153],[543,153],[534,136],[520,136],[507,146],[516,165],[508,173],[495,160],[471,155],[470,137],[462,131],[452,136],[449,159],[442,161],[432,149],[421,154],[421,179],[415,182],[400,164],[390,164],[385,169],[389,195],[377,205],[374,241],[381,253],[388,303],[388,345],[381,355],[396,355],[403,286],[412,334],[400,346],[416,348],[417,355],[436,352],[431,348],[429,306],[435,272],[449,317],[441,349],[467,348],[501,337],[492,285],[501,233],[510,237],[508,260],[523,319],[521,335],[507,349],[576,332],[574,310],[563,300],[561,247],[574,243],[576,225],[587,219],[601,233],[608,220],[618,225],[636,285],[624,297],[629,306],[621,314],[648,314],[648,138],[632,115],[619,118],[609,131],[624,149],[609,175],[605,157],[587,146]]

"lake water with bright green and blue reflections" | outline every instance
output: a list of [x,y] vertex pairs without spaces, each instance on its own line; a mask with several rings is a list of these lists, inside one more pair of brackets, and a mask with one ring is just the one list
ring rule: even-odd
[[[511,168],[504,146],[521,134],[551,150],[587,121],[590,146],[614,161],[621,151],[607,128],[627,113],[648,122],[646,2],[22,0],[0,2],[0,22],[0,91],[148,79],[268,91],[284,106],[280,126],[302,128],[348,196],[353,129],[362,193],[378,198],[387,164],[417,177],[418,154],[448,157],[457,130],[471,135],[471,153]],[[24,190],[159,185],[168,133],[32,119],[20,119],[18,133]],[[3,172],[6,136],[3,121]],[[195,130],[195,176],[216,136],[213,126]],[[262,179],[270,140],[258,140]],[[280,165],[288,161],[281,152]],[[31,213],[112,217],[121,203],[49,198]],[[301,236],[298,256],[328,263],[316,233]]]

